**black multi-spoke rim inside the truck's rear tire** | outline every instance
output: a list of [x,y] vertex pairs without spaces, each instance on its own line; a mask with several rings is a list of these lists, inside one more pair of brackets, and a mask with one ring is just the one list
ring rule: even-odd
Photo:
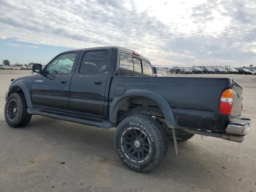
[[144,162],[151,154],[151,142],[146,133],[136,128],[128,128],[122,134],[122,148],[127,158],[134,162]]

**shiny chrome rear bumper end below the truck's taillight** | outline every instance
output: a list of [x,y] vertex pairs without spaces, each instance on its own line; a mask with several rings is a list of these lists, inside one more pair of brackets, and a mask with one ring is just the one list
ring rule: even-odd
[[243,117],[232,119],[225,132],[228,134],[244,136],[250,129],[250,122],[250,119]]

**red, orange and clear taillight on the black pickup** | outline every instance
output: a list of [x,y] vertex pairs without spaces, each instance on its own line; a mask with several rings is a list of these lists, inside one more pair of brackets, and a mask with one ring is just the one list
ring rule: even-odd
[[220,98],[220,113],[230,115],[232,112],[233,92],[232,89],[224,90]]

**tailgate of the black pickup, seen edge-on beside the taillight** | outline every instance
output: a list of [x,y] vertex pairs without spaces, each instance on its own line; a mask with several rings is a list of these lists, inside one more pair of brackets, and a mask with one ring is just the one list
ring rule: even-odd
[[242,110],[242,94],[243,90],[242,87],[240,87],[234,80],[232,80],[233,83],[233,107],[232,107],[232,113],[231,116],[239,116],[241,115]]

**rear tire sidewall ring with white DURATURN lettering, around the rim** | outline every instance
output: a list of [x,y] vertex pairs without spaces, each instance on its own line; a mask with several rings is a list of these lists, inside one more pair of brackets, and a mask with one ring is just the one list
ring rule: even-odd
[[[154,130],[151,130],[150,126],[148,126],[146,123],[138,122],[134,119],[124,120],[124,122],[121,123],[122,125],[118,125],[115,137],[115,146],[119,158],[124,162],[124,164],[126,164],[126,166],[128,166],[132,170],[145,170],[158,157],[158,146],[155,142],[156,134],[154,133]],[[124,151],[124,147],[121,142],[122,136],[126,133],[127,130],[130,129],[137,129],[143,131],[146,134],[148,141],[150,142],[150,155],[148,159],[146,159],[144,162],[134,162],[134,160],[131,160]]]

